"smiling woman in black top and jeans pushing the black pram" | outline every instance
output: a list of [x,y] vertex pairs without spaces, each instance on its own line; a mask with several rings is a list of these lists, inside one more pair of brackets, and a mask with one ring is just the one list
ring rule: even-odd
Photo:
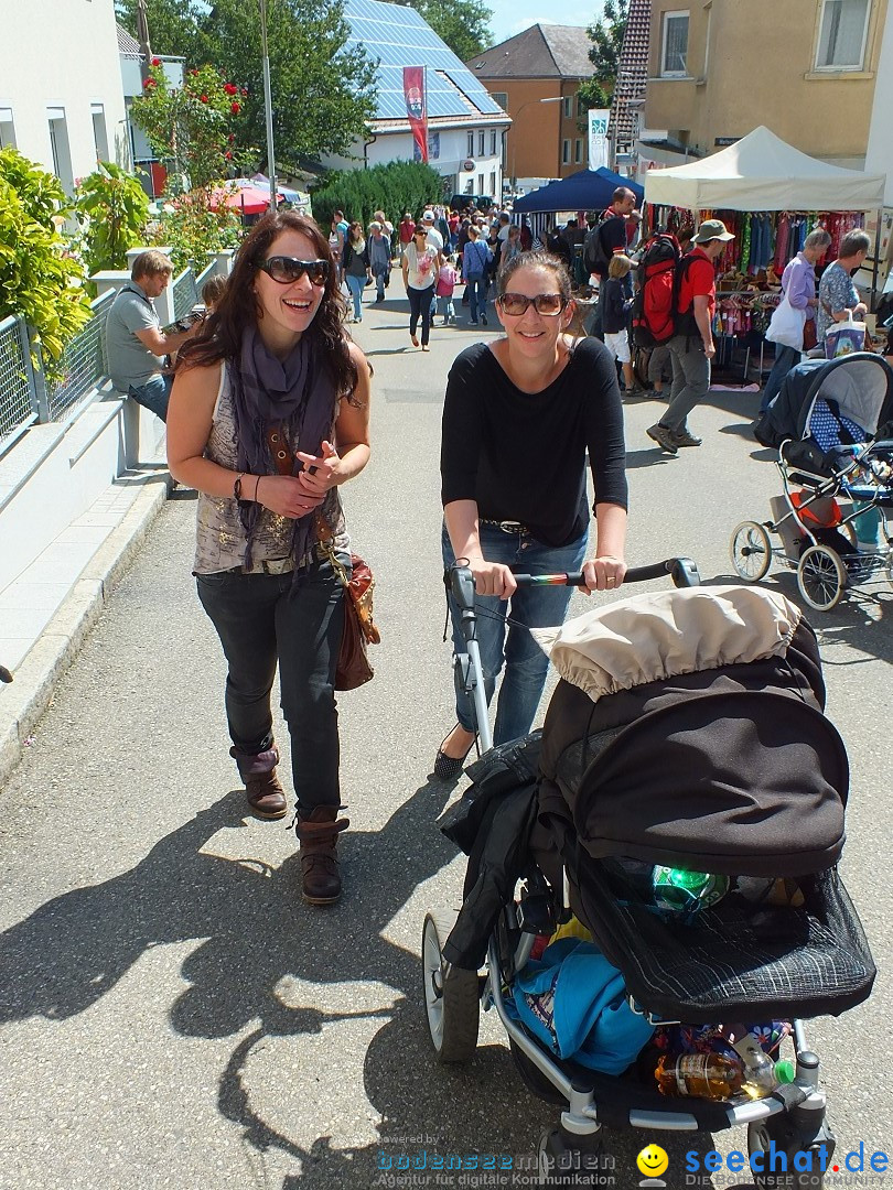
[[[526,735],[548,658],[529,628],[558,625],[569,587],[518,588],[529,574],[582,570],[586,590],[614,591],[626,574],[626,475],[617,372],[598,339],[572,339],[570,280],[542,251],[514,256],[499,275],[505,336],[467,347],[450,369],[441,446],[443,559],[467,558],[483,614],[477,637],[487,700],[505,666],[494,743]],[[588,551],[586,457],[595,488]],[[506,607],[508,601],[508,607]],[[464,653],[451,605],[456,653]],[[512,624],[506,633],[506,613]],[[457,777],[474,744],[474,715],[456,666],[456,726],[435,775]]]

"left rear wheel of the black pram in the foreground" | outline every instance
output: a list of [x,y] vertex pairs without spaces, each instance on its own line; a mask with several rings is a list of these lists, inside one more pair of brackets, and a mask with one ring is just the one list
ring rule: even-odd
[[456,913],[429,913],[421,927],[421,972],[425,1016],[437,1060],[468,1061],[477,1048],[480,983],[477,972],[452,966],[443,946],[456,923]]

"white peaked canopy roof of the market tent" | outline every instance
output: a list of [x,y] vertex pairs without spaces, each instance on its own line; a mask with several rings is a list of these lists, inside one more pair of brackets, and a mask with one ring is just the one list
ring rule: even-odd
[[645,176],[645,198],[689,211],[875,211],[883,174],[828,165],[764,125],[701,161]]

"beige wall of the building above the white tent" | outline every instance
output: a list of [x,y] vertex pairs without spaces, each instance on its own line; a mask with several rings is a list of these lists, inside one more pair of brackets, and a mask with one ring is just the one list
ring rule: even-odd
[[[816,70],[822,0],[692,0],[687,75],[660,76],[663,14],[651,7],[645,123],[701,154],[760,124],[810,156],[861,169],[879,82],[887,0],[872,0],[862,70]],[[889,86],[889,80],[886,80]],[[887,119],[889,102],[886,107]]]

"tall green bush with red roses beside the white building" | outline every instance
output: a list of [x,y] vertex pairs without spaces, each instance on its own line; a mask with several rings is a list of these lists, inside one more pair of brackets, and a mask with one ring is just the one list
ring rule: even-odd
[[132,114],[175,184],[189,190],[249,169],[256,161],[254,150],[237,144],[246,96],[244,87],[226,82],[211,65],[187,71],[183,86],[174,88],[161,58],[152,58]]

